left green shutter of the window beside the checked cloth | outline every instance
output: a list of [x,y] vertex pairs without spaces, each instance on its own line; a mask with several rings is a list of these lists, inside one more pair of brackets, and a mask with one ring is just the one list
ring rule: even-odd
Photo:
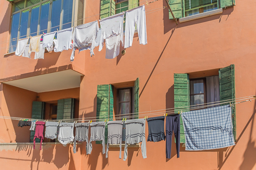
[[[188,111],[189,104],[189,77],[188,74],[174,74],[174,107],[175,113],[181,110]],[[183,108],[179,108],[183,107]],[[183,111],[184,112],[184,111]],[[183,121],[180,117],[180,142],[185,143]]]

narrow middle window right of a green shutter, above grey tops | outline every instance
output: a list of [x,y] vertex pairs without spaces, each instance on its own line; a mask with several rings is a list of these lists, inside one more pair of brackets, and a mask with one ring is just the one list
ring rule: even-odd
[[[133,114],[133,88],[121,88],[117,89],[117,115],[118,117],[122,117],[122,114],[126,114],[125,116],[132,116]],[[130,115],[128,115],[130,114]],[[128,118],[133,119],[133,117]]]

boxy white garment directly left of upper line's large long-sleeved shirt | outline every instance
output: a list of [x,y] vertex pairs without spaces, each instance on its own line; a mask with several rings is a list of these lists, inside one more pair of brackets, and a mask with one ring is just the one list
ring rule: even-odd
[[[73,27],[57,32],[57,39],[54,39],[54,52],[72,49]],[[55,43],[56,42],[56,43]]]

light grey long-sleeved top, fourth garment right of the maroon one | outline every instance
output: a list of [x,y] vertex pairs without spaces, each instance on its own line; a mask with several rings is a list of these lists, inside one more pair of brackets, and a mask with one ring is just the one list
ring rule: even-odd
[[102,140],[102,153],[105,153],[105,122],[93,122],[91,126],[91,137],[88,147],[88,153],[91,154],[93,145],[92,141],[101,141]]

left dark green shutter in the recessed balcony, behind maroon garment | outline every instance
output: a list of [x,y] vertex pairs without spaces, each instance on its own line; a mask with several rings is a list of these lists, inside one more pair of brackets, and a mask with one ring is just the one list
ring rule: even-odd
[[[32,103],[32,119],[44,119],[45,114],[45,102],[34,101]],[[30,142],[33,142],[35,131],[30,131]],[[36,138],[36,142],[40,142],[40,139]]]

